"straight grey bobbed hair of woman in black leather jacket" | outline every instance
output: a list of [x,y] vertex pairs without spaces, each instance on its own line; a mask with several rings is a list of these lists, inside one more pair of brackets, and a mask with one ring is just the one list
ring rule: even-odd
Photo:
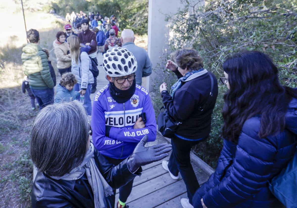
[[33,164],[50,176],[69,173],[83,161],[89,130],[86,110],[77,100],[46,106],[31,128]]

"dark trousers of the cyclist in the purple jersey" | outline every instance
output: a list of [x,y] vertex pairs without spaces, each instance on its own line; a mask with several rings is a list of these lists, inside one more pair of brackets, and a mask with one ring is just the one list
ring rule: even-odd
[[[108,162],[110,162],[113,165],[119,165],[119,163],[121,163],[123,160],[126,160],[126,158],[124,158],[124,159],[115,159],[115,158],[112,158],[112,157],[107,157],[105,155],[103,155],[103,156],[108,160]],[[130,195],[130,193],[132,191],[133,181],[134,181],[134,179],[131,180],[130,182],[128,182],[126,185],[119,188],[119,199],[122,202],[127,201],[127,198],[128,198],[128,196]],[[114,194],[112,196],[108,196],[108,197],[110,197],[110,200],[112,200],[113,204],[114,204],[115,201],[116,201],[116,189],[113,190],[113,193]]]

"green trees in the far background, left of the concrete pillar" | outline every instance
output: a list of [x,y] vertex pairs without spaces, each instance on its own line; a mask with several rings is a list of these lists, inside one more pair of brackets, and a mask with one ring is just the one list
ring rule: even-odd
[[65,16],[67,12],[88,12],[98,11],[103,18],[115,15],[119,21],[120,29],[132,29],[136,34],[146,34],[148,27],[148,0],[101,0],[101,1],[75,1],[58,0],[52,3],[56,12]]

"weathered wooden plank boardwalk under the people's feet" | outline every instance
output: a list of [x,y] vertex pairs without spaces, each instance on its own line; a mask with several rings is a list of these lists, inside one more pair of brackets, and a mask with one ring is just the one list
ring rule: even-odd
[[[97,54],[98,65],[102,63],[101,53]],[[97,91],[102,89],[108,81],[105,79],[105,71],[101,66],[99,68],[99,76],[97,78]],[[91,100],[94,99],[91,94]],[[147,145],[168,142],[162,135],[157,133],[156,141],[149,142]],[[191,155],[193,156],[193,154]],[[195,156],[193,156],[195,157]],[[168,160],[169,156],[165,158]],[[196,158],[197,159],[197,158]],[[200,184],[206,182],[209,174],[203,171],[199,166],[192,162],[192,166]],[[151,208],[151,207],[176,207],[181,208],[180,199],[187,198],[186,186],[182,179],[173,180],[169,173],[162,167],[162,161],[154,162],[143,166],[143,172],[140,177],[136,177],[133,183],[133,189],[127,199],[129,208]],[[181,178],[181,177],[180,177]],[[116,193],[116,202],[119,199],[119,193]]]

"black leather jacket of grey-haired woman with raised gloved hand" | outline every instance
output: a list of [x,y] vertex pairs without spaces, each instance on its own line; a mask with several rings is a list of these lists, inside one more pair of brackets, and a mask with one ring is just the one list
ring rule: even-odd
[[[100,173],[113,188],[125,185],[142,171],[139,168],[135,174],[131,173],[127,159],[113,166],[97,150],[94,155]],[[94,207],[94,195],[86,174],[78,180],[66,181],[38,172],[32,187],[31,203],[32,207]],[[114,201],[105,199],[105,205],[114,207]]]

